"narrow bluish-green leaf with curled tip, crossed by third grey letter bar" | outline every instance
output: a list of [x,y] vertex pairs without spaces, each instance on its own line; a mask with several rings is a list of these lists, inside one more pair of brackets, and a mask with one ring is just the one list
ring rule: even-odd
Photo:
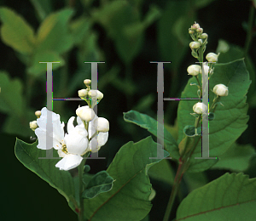
[[[125,122],[132,122],[137,124],[140,127],[143,127],[148,130],[148,132],[157,136],[157,121],[154,118],[141,114],[137,111],[128,111],[124,113]],[[164,128],[164,140],[165,140],[165,149],[170,153],[174,159],[179,158],[177,142],[172,138],[172,134],[169,133],[166,128]]]

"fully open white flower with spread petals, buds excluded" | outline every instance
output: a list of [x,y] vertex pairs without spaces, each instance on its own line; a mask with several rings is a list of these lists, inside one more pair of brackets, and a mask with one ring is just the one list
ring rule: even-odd
[[[47,115],[52,115],[53,133],[49,133],[46,129]],[[74,116],[67,122],[67,133],[64,136],[64,122],[60,121],[60,116],[52,111],[48,111],[45,107],[42,109],[42,115],[38,118],[38,128],[35,130],[38,136],[38,148],[49,150],[52,146],[46,145],[46,137],[53,140],[53,147],[58,150],[60,157],[63,157],[55,167],[61,170],[70,170],[78,167],[83,160],[82,155],[87,151],[89,140],[87,139],[87,131],[84,124],[79,123],[76,127],[73,126]]]

